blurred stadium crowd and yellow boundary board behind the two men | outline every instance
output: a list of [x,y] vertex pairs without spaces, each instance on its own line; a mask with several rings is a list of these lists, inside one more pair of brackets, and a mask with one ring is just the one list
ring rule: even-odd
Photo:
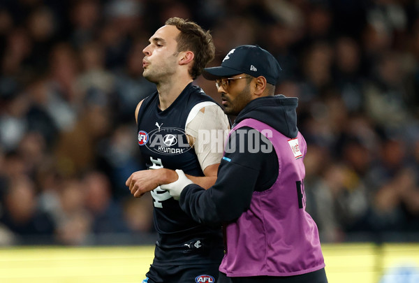
[[277,93],[299,98],[330,282],[418,282],[418,12],[417,0],[1,0],[0,282],[142,278],[152,202],[124,183],[141,169],[135,106],[154,89],[142,49],[172,16],[211,29],[210,66],[258,44],[284,68]]

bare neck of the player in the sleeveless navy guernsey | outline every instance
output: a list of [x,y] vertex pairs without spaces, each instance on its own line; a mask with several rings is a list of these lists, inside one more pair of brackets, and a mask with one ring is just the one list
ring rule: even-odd
[[161,82],[157,85],[157,91],[159,92],[159,108],[160,110],[166,110],[172,105],[173,101],[177,99],[177,96],[181,94],[186,85],[192,82],[192,78],[174,78],[168,82]]

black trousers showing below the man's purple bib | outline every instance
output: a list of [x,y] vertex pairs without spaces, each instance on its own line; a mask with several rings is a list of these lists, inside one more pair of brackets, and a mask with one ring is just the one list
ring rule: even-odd
[[253,277],[227,277],[219,273],[216,283],[328,283],[325,269],[294,276],[253,276]]

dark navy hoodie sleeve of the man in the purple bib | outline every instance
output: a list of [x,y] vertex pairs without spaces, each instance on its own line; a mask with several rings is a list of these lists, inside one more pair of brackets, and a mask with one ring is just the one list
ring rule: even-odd
[[205,190],[189,184],[179,205],[199,223],[233,221],[249,208],[253,191],[272,187],[278,166],[277,154],[265,136],[249,127],[237,129],[228,140],[214,186]]

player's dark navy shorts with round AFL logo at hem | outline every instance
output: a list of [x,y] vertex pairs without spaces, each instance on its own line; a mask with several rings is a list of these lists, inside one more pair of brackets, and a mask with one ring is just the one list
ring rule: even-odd
[[215,283],[219,263],[183,266],[150,266],[147,283]]

